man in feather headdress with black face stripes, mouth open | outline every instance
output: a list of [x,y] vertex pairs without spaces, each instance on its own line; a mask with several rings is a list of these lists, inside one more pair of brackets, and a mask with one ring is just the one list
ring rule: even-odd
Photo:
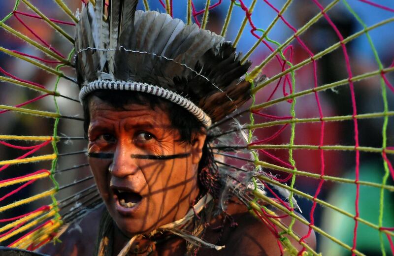
[[[223,37],[135,11],[136,3],[112,0],[106,12],[96,0],[82,9],[76,69],[89,163],[105,206],[42,252],[280,255],[269,228],[224,195],[226,173],[209,149],[212,122],[249,98],[250,83],[240,78],[250,63],[241,64]],[[302,236],[308,227],[293,230]],[[314,248],[313,235],[306,242]]]

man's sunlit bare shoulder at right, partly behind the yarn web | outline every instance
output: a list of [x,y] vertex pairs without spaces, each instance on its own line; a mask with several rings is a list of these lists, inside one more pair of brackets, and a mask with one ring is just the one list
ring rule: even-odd
[[[273,210],[273,209],[272,209]],[[276,215],[284,215],[279,210],[273,210]],[[222,238],[220,239],[221,245],[226,245],[225,249],[221,250],[220,255],[242,255],[242,256],[277,256],[280,255],[278,240],[275,235],[270,231],[266,224],[252,216],[241,205],[232,205],[230,209],[231,216],[235,227],[226,225],[223,231]],[[300,215],[299,215],[300,216]],[[302,216],[301,216],[302,217]],[[285,225],[289,225],[292,221],[291,217],[281,218]],[[277,227],[277,230],[282,231]],[[293,225],[293,231],[299,237],[304,236],[308,232],[308,226],[298,221]],[[293,238],[287,236],[292,244],[299,251],[302,246]],[[306,239],[306,243],[315,249],[316,237],[314,232]]]

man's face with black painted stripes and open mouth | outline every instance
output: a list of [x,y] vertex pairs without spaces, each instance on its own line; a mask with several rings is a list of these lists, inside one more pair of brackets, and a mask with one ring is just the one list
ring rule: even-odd
[[89,163],[118,227],[128,235],[146,234],[183,218],[198,194],[205,135],[180,142],[159,107],[119,110],[93,96],[89,110]]

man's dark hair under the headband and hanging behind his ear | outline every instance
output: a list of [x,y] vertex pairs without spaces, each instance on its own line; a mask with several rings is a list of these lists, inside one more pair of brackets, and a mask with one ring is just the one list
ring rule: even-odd
[[[124,109],[124,106],[127,104],[139,104],[149,105],[153,110],[156,107],[166,110],[171,128],[179,131],[181,142],[192,143],[195,134],[205,132],[202,123],[192,113],[167,99],[147,93],[97,90],[86,97],[83,102],[85,136],[87,135],[90,124],[89,99],[92,96],[97,96],[102,101],[119,109]],[[198,186],[202,194],[210,192],[215,198],[219,197],[221,182],[207,140],[205,140],[202,148],[202,156],[198,163],[198,181]]]

